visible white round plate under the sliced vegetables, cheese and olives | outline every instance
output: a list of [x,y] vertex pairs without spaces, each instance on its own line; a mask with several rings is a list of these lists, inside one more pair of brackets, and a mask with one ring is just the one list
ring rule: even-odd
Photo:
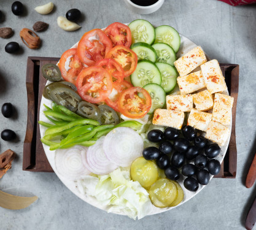
[[[78,42],[77,42],[78,43]],[[187,53],[188,51],[192,50],[192,48],[195,48],[197,45],[192,42],[192,40],[188,39],[187,37],[183,36],[180,34],[180,48],[179,48],[179,52],[177,53],[177,58],[179,58],[180,56],[184,55],[185,53]],[[75,44],[73,47],[71,48],[76,48],[77,47],[77,44]],[[47,82],[48,84],[49,82]],[[224,94],[228,94],[228,91],[227,92],[223,92]],[[51,106],[51,102],[50,100],[48,99],[45,99],[44,97],[42,97],[42,100],[41,100],[41,105],[40,105],[40,114],[39,114],[39,120],[41,121],[45,121],[45,122],[49,122],[47,120],[47,118],[45,117],[44,115],[44,110],[45,110],[45,107],[44,107],[44,104],[45,105],[48,105],[49,107]],[[231,123],[230,123],[231,124]],[[228,126],[228,128],[231,130],[231,125]],[[45,132],[46,128],[44,126],[41,126],[40,125],[40,134],[41,134],[41,137],[44,136],[44,132]],[[225,145],[223,145],[221,147],[221,152],[220,152],[220,155],[217,156],[216,159],[218,159],[220,161],[220,163],[222,163],[223,161],[223,158],[225,156],[225,153],[227,151],[227,148],[228,148],[228,143],[229,143],[229,140],[230,140],[230,137],[228,138],[227,142]],[[45,151],[45,155],[47,156],[47,159],[50,163],[50,165],[52,166],[53,168],[53,171],[55,171],[55,174],[60,178],[61,182],[64,183],[64,185],[66,185],[69,190],[72,191],[72,193],[76,194],[76,196],[80,197],[83,201],[87,202],[88,204],[91,204],[95,207],[97,207],[98,209],[102,209],[102,210],[107,210],[107,206],[106,205],[103,205],[101,204],[100,202],[98,202],[95,197],[92,197],[92,196],[86,196],[86,195],[83,195],[79,192],[79,190],[77,189],[76,187],[76,182],[73,182],[71,180],[67,180],[66,178],[62,177],[60,174],[58,174],[58,172],[56,171],[56,167],[55,167],[55,152],[54,151],[50,151],[49,150],[49,147],[47,145],[44,145],[43,144],[43,147],[44,147],[44,151]],[[211,176],[211,179],[212,179],[213,176]],[[193,196],[195,196],[196,194],[200,193],[200,191],[204,188],[204,186],[200,185],[200,187],[198,188],[198,190],[196,192],[191,192],[191,191],[188,191],[184,188],[184,185],[183,185],[183,180],[184,180],[184,177],[181,175],[180,179],[177,181],[179,182],[180,186],[182,187],[183,191],[184,191],[184,199],[182,202],[180,202],[179,205],[182,205],[184,204],[185,202],[187,202],[189,199],[191,199]],[[179,206],[177,205],[177,206]],[[177,207],[176,206],[176,207]],[[153,214],[156,214],[156,213],[161,213],[161,212],[165,212],[167,210],[171,210],[171,209],[174,209],[175,207],[168,207],[168,208],[158,208],[158,207],[155,207],[154,205],[152,205],[152,212],[149,213],[149,215],[153,215]],[[122,212],[115,212],[116,214],[120,214],[120,215],[125,215],[124,213]]]

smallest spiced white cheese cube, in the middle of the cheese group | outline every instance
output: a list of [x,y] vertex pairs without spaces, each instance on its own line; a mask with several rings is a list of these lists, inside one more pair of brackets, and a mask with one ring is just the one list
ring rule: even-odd
[[197,110],[206,111],[212,109],[213,98],[208,90],[193,94],[193,102]]

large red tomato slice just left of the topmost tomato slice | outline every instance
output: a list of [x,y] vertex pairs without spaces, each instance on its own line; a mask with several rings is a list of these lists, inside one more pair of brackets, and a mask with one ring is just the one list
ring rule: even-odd
[[112,47],[111,39],[101,29],[92,29],[79,40],[77,53],[83,63],[93,66],[96,61],[105,58]]

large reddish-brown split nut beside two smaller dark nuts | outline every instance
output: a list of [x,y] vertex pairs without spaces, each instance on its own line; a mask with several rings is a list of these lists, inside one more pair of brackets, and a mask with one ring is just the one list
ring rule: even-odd
[[28,48],[39,48],[41,39],[30,29],[23,28],[20,31],[20,38]]

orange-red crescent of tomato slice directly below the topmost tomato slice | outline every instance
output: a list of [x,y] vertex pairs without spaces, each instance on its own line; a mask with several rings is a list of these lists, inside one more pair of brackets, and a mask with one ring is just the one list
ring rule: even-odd
[[128,77],[135,71],[138,63],[136,53],[123,45],[117,45],[109,50],[109,52],[106,54],[106,58],[112,58],[117,61],[123,67],[125,77]]

